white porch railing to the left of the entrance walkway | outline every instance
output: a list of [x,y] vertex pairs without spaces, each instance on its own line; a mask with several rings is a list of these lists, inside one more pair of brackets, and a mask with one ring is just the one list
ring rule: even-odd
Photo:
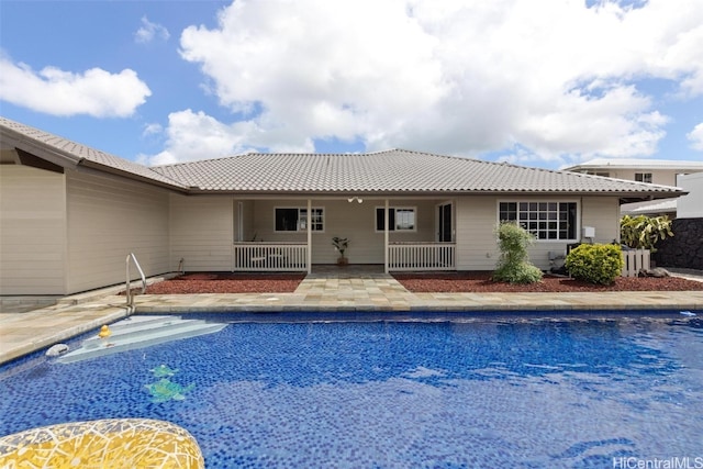
[[234,270],[308,271],[304,243],[234,243]]

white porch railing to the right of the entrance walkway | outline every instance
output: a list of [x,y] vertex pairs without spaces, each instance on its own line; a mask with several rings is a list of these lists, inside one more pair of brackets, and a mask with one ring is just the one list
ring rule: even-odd
[[391,243],[388,270],[456,270],[454,243]]

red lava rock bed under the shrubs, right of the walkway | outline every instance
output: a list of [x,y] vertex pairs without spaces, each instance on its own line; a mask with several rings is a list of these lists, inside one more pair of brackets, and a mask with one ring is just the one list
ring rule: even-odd
[[563,277],[545,276],[540,282],[511,284],[491,281],[490,272],[395,273],[414,293],[456,292],[600,292],[600,291],[690,291],[703,290],[703,282],[678,277],[618,277],[612,286],[596,286]]

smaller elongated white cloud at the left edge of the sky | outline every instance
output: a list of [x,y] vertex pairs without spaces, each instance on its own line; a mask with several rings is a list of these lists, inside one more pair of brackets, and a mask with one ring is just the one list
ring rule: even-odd
[[45,67],[36,72],[0,57],[0,99],[37,112],[124,118],[150,94],[146,83],[129,68],[119,74],[100,68],[74,74]]

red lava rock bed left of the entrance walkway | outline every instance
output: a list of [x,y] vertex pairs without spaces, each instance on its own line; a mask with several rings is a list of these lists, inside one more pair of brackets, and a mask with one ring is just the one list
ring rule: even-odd
[[187,273],[146,288],[146,294],[290,293],[302,273]]

